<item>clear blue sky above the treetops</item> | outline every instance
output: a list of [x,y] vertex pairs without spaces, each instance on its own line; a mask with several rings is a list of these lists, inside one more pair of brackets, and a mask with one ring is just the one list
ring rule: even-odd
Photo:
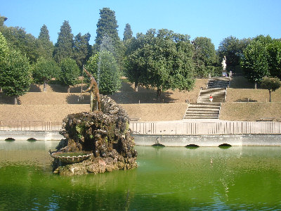
[[99,11],[104,7],[115,11],[121,39],[126,23],[131,25],[133,36],[150,28],[166,28],[188,34],[191,40],[209,37],[216,49],[230,35],[239,39],[259,34],[281,38],[280,0],[0,0],[0,5],[8,27],[23,27],[38,37],[45,24],[54,44],[64,20],[69,21],[74,36],[89,32],[93,44]]

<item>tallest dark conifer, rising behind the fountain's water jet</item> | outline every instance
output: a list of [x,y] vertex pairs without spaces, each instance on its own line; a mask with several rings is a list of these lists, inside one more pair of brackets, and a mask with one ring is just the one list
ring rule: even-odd
[[96,43],[93,46],[93,53],[97,53],[98,51],[103,51],[101,48],[103,46],[103,42],[105,39],[110,39],[113,51],[110,53],[113,54],[117,63],[119,65],[119,69],[122,70],[124,66],[124,53],[125,53],[125,46],[123,42],[120,40],[118,36],[118,25],[117,20],[115,17],[115,11],[110,10],[110,8],[103,8],[100,10],[100,19],[98,20],[97,26],[97,36],[96,36]]

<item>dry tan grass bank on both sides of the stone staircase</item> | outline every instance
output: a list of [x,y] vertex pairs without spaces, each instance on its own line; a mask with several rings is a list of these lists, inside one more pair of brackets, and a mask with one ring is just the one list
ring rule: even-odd
[[[187,105],[197,101],[200,87],[207,86],[207,79],[197,79],[192,91],[164,91],[161,98],[156,98],[155,89],[133,89],[133,84],[122,83],[122,88],[111,97],[129,114],[140,121],[181,120]],[[221,120],[256,121],[261,118],[272,118],[281,121],[281,89],[272,93],[273,103],[269,99],[268,90],[252,89],[253,84],[243,77],[235,77],[230,83],[226,103],[221,108]],[[251,89],[250,89],[251,88]],[[0,93],[0,120],[38,120],[61,121],[70,113],[89,111],[89,93],[83,94],[84,101],[77,101],[81,87],[70,89],[57,84],[43,87],[32,85],[30,92],[20,96],[20,106],[13,105],[13,98]],[[86,89],[86,87],[84,87]],[[252,101],[250,103],[241,103]]]

